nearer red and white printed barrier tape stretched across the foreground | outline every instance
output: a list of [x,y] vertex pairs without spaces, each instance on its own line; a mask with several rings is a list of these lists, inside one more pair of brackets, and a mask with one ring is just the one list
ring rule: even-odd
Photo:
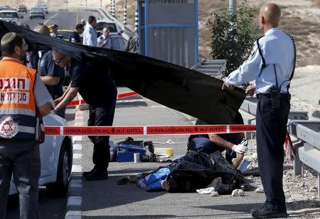
[[245,133],[255,125],[46,126],[46,135],[190,135]]

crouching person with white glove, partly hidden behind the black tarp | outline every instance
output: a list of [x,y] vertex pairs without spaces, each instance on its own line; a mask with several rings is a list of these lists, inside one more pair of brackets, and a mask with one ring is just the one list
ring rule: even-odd
[[[243,124],[240,113],[235,116],[233,124]],[[197,119],[196,125],[208,125],[208,123]],[[220,152],[226,150],[225,159],[237,169],[244,157],[244,153],[247,151],[247,140],[242,141],[243,138],[245,138],[244,133],[190,135],[188,138],[188,150],[203,152],[208,155],[217,150]],[[233,158],[236,159],[233,161]]]

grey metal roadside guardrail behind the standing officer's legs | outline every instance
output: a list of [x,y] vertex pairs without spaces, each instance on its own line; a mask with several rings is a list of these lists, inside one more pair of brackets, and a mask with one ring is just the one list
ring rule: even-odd
[[[255,116],[257,99],[247,97],[240,106],[242,111]],[[251,120],[248,120],[251,123]],[[309,120],[306,111],[290,111],[288,121],[290,135],[297,138],[294,142],[296,157],[294,158],[294,175],[303,175],[302,164],[306,164],[318,172],[318,196],[320,197],[320,120]]]

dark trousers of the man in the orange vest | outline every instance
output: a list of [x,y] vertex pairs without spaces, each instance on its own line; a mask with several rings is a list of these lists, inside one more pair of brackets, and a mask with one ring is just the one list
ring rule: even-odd
[[0,219],[6,218],[11,175],[19,194],[20,218],[39,218],[40,174],[38,142],[0,140]]

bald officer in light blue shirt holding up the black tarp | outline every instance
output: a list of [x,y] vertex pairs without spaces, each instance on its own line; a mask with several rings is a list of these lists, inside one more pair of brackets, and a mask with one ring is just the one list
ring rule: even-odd
[[294,73],[295,46],[279,30],[279,6],[265,4],[259,13],[265,35],[255,42],[252,54],[239,69],[231,72],[223,89],[255,80],[257,94],[257,155],[266,201],[251,210],[255,218],[284,218],[287,209],[282,186],[284,140],[290,109],[289,83]]

